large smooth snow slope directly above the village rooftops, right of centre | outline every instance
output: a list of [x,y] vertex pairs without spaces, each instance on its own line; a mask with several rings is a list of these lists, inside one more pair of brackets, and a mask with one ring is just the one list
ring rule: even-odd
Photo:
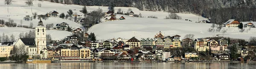
[[[195,34],[196,38],[212,37],[222,34],[221,32],[208,32],[207,29],[211,25],[175,19],[133,18],[96,24],[88,32],[94,32],[98,40],[108,40],[118,37],[130,39],[134,36],[140,40],[140,38],[153,38],[159,31],[165,36],[178,34],[182,38],[186,34]],[[238,28],[224,29],[227,29],[227,33],[240,33]],[[252,28],[248,33],[253,32],[256,32],[255,28]]]

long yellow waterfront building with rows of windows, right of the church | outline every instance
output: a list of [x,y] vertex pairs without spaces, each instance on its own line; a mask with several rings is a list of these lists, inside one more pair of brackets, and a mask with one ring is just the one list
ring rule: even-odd
[[61,56],[79,57],[79,50],[78,49],[61,49]]

